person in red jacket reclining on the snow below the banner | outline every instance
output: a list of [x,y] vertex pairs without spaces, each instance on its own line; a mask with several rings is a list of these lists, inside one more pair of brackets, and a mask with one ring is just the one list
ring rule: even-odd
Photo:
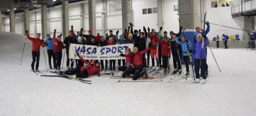
[[[85,64],[88,64],[86,66],[77,66],[74,69],[70,69],[65,71],[64,74],[67,75],[75,75],[74,78],[87,78],[88,76],[91,75],[99,75],[99,66],[101,63],[97,62],[96,66],[94,65],[95,61],[92,60],[91,62],[84,60],[79,53],[77,53],[77,56],[79,57],[80,60],[82,60]],[[63,72],[60,72],[60,75],[63,74]]]

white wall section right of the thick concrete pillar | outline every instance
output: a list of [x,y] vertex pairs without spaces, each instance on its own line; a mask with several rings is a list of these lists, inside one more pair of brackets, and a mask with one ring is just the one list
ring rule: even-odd
[[[207,11],[206,21],[214,23],[217,25],[210,24],[210,32],[207,37],[209,40],[212,40],[216,35],[239,35],[241,40],[243,36],[243,31],[236,30],[233,28],[243,28],[244,27],[244,18],[243,17],[231,17],[231,7],[218,7],[211,8],[211,1],[203,1],[203,13]],[[227,28],[223,26],[233,27]],[[202,28],[202,27],[201,27]]]

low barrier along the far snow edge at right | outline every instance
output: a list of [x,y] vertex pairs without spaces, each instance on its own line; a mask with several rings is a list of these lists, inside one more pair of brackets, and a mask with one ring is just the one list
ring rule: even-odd
[[[210,47],[216,47],[216,41],[209,41]],[[227,48],[229,49],[250,49],[256,50],[255,44],[256,41],[248,41],[248,40],[229,40],[227,41]],[[219,48],[225,48],[224,41],[219,41]]]

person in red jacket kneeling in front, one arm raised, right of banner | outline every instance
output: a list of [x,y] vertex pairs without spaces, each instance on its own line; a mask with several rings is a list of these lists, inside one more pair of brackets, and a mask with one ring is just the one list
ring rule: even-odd
[[[151,47],[151,44],[149,44],[149,47]],[[138,51],[137,47],[134,47],[134,59],[131,64],[132,68],[125,70],[125,72],[122,74],[122,78],[125,78],[126,76],[133,74],[132,80],[137,80],[141,78],[143,75],[145,78],[148,78],[148,74],[146,74],[146,71],[143,71],[143,60],[142,56],[145,54],[146,51],[149,50],[149,47],[147,47],[143,51]],[[143,73],[141,73],[143,71]]]

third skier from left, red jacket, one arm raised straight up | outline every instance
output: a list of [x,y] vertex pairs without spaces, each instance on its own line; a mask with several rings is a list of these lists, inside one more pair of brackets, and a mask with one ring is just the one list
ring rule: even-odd
[[56,65],[55,69],[60,70],[60,65],[61,65],[61,59],[62,59],[62,50],[65,49],[63,42],[60,41],[61,37],[58,36],[57,38],[55,37],[56,34],[56,29],[54,30],[54,35],[53,35],[53,40],[54,40],[54,48],[53,48],[53,54],[56,59]]

